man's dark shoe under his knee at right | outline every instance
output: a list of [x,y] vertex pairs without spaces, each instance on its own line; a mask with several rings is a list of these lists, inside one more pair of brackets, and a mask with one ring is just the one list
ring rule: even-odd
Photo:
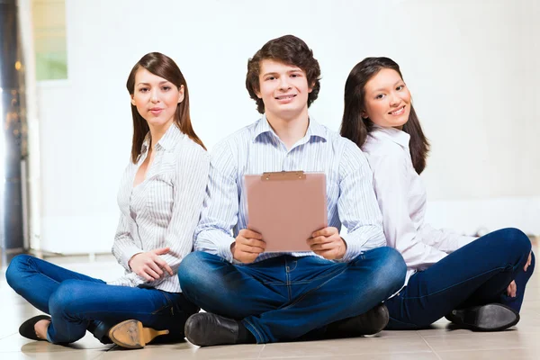
[[383,330],[390,319],[388,309],[383,303],[361,315],[332,322],[327,327],[328,338],[353,338],[374,335]]

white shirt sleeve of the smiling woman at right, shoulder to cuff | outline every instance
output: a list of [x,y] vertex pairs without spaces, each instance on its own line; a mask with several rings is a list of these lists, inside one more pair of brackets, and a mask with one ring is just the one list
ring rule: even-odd
[[402,149],[389,148],[382,156],[370,157],[370,164],[388,246],[401,253],[409,268],[417,270],[426,269],[446,257],[445,252],[422,242],[410,219],[410,169]]

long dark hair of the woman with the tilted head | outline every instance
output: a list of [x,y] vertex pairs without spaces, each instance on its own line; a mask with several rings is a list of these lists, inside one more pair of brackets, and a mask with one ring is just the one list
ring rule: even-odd
[[[365,58],[353,67],[345,83],[345,110],[341,121],[341,136],[350,139],[362,148],[365,139],[374,130],[374,123],[363,118],[365,112],[365,84],[383,68],[391,68],[401,75],[400,66],[391,58]],[[403,131],[410,135],[410,157],[418,174],[426,167],[429,141],[424,136],[419,118],[410,105],[409,120],[403,125]]]

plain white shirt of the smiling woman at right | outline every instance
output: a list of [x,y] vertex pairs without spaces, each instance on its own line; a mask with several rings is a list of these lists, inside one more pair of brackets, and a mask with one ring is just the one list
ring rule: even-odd
[[389,247],[400,251],[407,277],[424,270],[475,238],[424,223],[426,186],[412,166],[410,135],[394,128],[375,127],[362,149],[374,172],[374,189],[383,212]]

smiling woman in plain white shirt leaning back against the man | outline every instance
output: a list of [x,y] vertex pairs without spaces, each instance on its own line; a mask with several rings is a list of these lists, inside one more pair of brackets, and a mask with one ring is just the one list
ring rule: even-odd
[[419,175],[429,143],[392,59],[365,58],[353,68],[341,135],[367,154],[388,246],[407,264],[404,286],[385,302],[386,329],[422,329],[444,316],[480,331],[516,325],[535,267],[530,240],[518,229],[472,238],[424,222],[427,193]]

